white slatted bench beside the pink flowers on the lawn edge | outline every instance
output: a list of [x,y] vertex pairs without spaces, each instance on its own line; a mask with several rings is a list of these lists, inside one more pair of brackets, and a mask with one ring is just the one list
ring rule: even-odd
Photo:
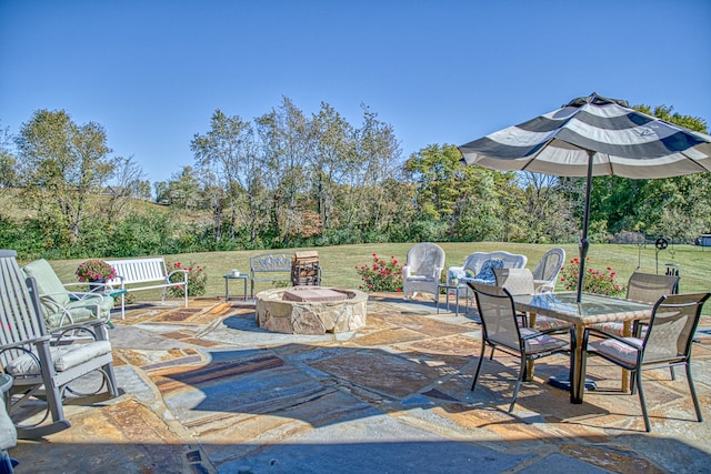
[[[188,271],[173,270],[168,273],[166,260],[162,256],[143,259],[107,260],[113,266],[117,278],[107,281],[107,286],[113,290],[116,296],[121,296],[121,319],[126,316],[126,293],[141,290],[162,289],[161,301],[166,302],[166,290],[170,286],[182,286],[188,307]],[[183,280],[171,282],[170,276],[182,273]]]

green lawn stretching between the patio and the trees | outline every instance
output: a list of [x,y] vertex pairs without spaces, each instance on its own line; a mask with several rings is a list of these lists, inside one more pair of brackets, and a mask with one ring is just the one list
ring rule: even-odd
[[[440,245],[447,254],[445,268],[461,265],[467,255],[472,252],[504,250],[511,253],[522,253],[527,255],[527,266],[531,270],[535,266],[541,255],[553,246],[498,242],[440,243]],[[404,263],[410,246],[412,246],[411,243],[375,243],[318,248],[316,250],[319,252],[322,268],[322,284],[324,286],[358,289],[361,281],[356,272],[357,265],[372,263],[373,253],[384,259],[393,255],[399,262]],[[578,255],[578,245],[562,245],[562,248],[565,250],[568,261]],[[276,250],[271,252],[291,254],[297,250],[306,249]],[[224,296],[224,280],[222,275],[229,273],[232,269],[238,269],[242,273],[249,273],[250,256],[261,253],[270,253],[270,251],[187,253],[166,255],[166,260],[170,262],[180,261],[183,264],[193,262],[203,266],[208,275],[207,295]],[[711,274],[709,270],[711,266],[711,249],[697,245],[674,245],[673,250],[670,246],[668,250],[660,251],[658,254],[654,245],[647,245],[640,249],[638,245],[591,244],[588,256],[590,256],[588,266],[598,270],[610,266],[618,273],[618,279],[622,283],[627,282],[638,265],[641,266],[641,271],[647,273],[657,273],[658,270],[659,273],[664,273],[667,270],[664,264],[674,262],[680,265],[681,292],[690,293],[711,290]],[[52,261],[51,264],[59,278],[68,283],[77,281],[74,270],[82,261],[83,260],[62,260]],[[254,291],[258,292],[268,288],[270,288],[269,283],[260,282],[256,284]],[[236,285],[236,282],[232,282],[230,290],[233,295],[239,294],[241,292],[241,284]],[[557,290],[563,290],[560,282]],[[238,293],[236,293],[236,291]],[[146,293],[149,294],[148,292]],[[139,299],[147,297],[142,296],[141,293],[138,293],[138,295]]]

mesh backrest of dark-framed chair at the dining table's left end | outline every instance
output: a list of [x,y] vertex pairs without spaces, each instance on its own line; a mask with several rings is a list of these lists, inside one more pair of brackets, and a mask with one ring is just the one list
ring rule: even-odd
[[480,283],[467,284],[474,292],[484,339],[505,347],[522,351],[521,333],[511,293],[501,286]]

